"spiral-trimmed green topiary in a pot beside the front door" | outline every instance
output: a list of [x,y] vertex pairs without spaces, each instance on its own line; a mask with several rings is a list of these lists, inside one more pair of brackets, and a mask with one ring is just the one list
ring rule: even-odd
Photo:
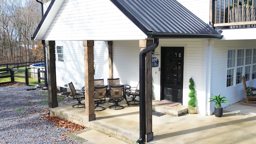
[[194,89],[194,80],[192,77],[189,79],[190,85],[190,93],[188,96],[190,97],[190,100],[188,101],[188,113],[189,114],[196,114],[196,96],[194,95],[196,93],[196,90]]

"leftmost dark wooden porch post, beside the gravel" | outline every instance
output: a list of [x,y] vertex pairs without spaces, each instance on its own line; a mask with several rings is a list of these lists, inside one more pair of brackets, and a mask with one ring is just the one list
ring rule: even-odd
[[55,67],[55,41],[46,41],[47,48],[47,71],[48,71],[48,91],[49,108],[58,107],[57,86],[56,86],[56,67]]

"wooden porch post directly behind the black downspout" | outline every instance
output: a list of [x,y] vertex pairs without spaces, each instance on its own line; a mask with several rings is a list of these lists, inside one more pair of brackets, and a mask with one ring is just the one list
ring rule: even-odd
[[[153,40],[140,40],[140,50],[151,46]],[[145,140],[147,142],[153,140],[152,132],[152,53],[148,52],[146,54],[146,136]]]

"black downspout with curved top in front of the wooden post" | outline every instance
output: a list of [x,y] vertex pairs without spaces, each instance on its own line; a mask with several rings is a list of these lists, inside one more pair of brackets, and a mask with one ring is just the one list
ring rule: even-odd
[[137,144],[144,143],[146,135],[145,57],[146,54],[154,50],[158,44],[159,39],[154,38],[154,44],[140,52],[140,138],[137,140]]

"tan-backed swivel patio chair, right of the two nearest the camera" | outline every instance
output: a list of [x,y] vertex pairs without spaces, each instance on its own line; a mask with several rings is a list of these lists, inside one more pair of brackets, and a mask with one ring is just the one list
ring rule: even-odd
[[124,106],[118,104],[124,97],[124,86],[123,85],[110,85],[110,102],[114,102],[114,105],[109,106],[112,110],[123,109]]

